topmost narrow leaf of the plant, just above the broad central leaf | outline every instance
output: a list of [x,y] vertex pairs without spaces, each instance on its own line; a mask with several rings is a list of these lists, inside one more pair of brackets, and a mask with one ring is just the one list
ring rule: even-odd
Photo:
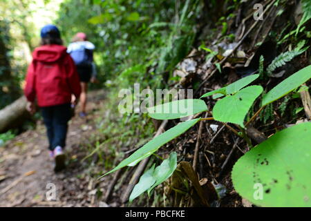
[[251,84],[252,81],[256,80],[258,77],[259,75],[250,75],[247,77],[243,77],[242,79],[239,79],[238,81],[235,81],[234,83],[229,84],[228,86],[206,93],[205,95],[202,95],[202,97],[208,97],[208,96],[218,94],[218,93],[224,94],[224,95],[233,95],[237,93],[238,90],[241,90],[245,86]]

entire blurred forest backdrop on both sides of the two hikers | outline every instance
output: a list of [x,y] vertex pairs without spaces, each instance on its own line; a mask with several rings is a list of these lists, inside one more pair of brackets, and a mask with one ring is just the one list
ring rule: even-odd
[[[134,82],[160,88],[191,49],[201,1],[1,1],[1,104],[21,95],[39,30],[55,23],[68,45],[86,32],[95,46],[100,84],[91,88],[129,88]],[[165,77],[165,76],[164,76]],[[117,86],[117,87],[116,87]],[[111,92],[113,94],[113,92]]]

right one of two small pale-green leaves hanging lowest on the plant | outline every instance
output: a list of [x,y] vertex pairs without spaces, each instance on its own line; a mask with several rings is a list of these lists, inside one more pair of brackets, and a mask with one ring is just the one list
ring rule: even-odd
[[158,186],[158,184],[161,184],[165,180],[167,180],[171,175],[173,175],[173,172],[176,170],[177,167],[177,153],[173,152],[169,155],[169,158],[167,160],[163,160],[162,164],[160,166],[157,166],[153,173],[153,177],[156,178],[156,183],[153,184],[148,189],[148,194],[151,192],[153,188]]

